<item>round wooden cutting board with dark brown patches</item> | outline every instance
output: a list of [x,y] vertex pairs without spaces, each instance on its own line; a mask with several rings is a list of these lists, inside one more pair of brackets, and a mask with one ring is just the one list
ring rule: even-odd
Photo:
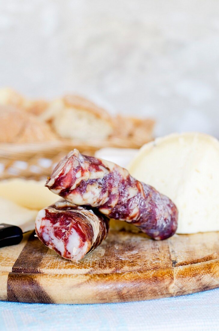
[[174,235],[111,231],[78,263],[45,247],[34,232],[0,249],[0,300],[106,303],[149,300],[219,287],[219,232]]

